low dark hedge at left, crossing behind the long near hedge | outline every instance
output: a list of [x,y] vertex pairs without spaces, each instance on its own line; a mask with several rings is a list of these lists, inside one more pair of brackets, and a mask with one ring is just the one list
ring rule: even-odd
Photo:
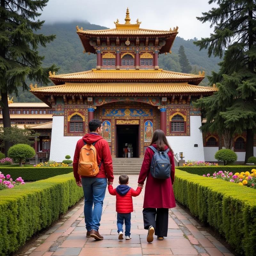
[[22,177],[24,181],[36,181],[73,172],[73,167],[0,167],[0,172],[10,174],[13,180]]

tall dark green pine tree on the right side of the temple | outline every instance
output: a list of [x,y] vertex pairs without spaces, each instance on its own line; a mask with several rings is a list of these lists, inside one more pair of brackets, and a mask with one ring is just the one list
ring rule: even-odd
[[[216,126],[231,132],[247,132],[245,162],[253,156],[253,137],[256,129],[256,2],[210,0],[218,7],[203,12],[197,17],[203,23],[211,22],[214,33],[210,37],[194,42],[201,49],[208,48],[209,57],[224,58],[219,63],[220,71],[212,72],[210,83],[215,83],[219,91],[209,98],[221,99],[222,106],[214,101],[216,115],[207,109],[207,124],[217,122]],[[199,105],[206,107],[210,99],[200,99]],[[214,120],[214,121],[213,121]]]

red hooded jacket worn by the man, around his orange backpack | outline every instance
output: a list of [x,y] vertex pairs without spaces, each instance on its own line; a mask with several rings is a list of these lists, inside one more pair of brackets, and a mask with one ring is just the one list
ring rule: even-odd
[[82,139],[78,140],[76,143],[76,150],[73,160],[73,172],[76,181],[79,181],[81,178],[84,178],[84,176],[80,177],[80,175],[78,174],[79,155],[81,148],[83,148],[84,146],[84,141],[88,144],[92,144],[95,141],[97,141],[94,145],[97,151],[97,163],[98,165],[100,165],[101,161],[102,163],[100,166],[100,172],[95,176],[95,178],[107,178],[108,181],[113,182],[114,176],[112,157],[109,150],[108,142],[96,133],[87,133],[84,135]]

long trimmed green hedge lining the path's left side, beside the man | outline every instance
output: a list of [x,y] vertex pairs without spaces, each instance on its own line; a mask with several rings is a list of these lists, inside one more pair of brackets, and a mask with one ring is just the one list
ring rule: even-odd
[[10,255],[76,204],[83,189],[72,173],[0,191],[0,255]]

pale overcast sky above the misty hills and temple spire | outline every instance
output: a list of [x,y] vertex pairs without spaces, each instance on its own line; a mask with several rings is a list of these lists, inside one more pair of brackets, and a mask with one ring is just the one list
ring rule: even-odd
[[[137,18],[140,28],[169,30],[179,27],[178,36],[184,39],[209,36],[213,31],[209,23],[196,19],[214,5],[207,0],[49,0],[40,19],[46,23],[58,21],[89,21],[92,24],[115,28],[114,21],[124,23],[126,8],[129,8],[131,23]],[[83,24],[77,24],[79,26]]]

